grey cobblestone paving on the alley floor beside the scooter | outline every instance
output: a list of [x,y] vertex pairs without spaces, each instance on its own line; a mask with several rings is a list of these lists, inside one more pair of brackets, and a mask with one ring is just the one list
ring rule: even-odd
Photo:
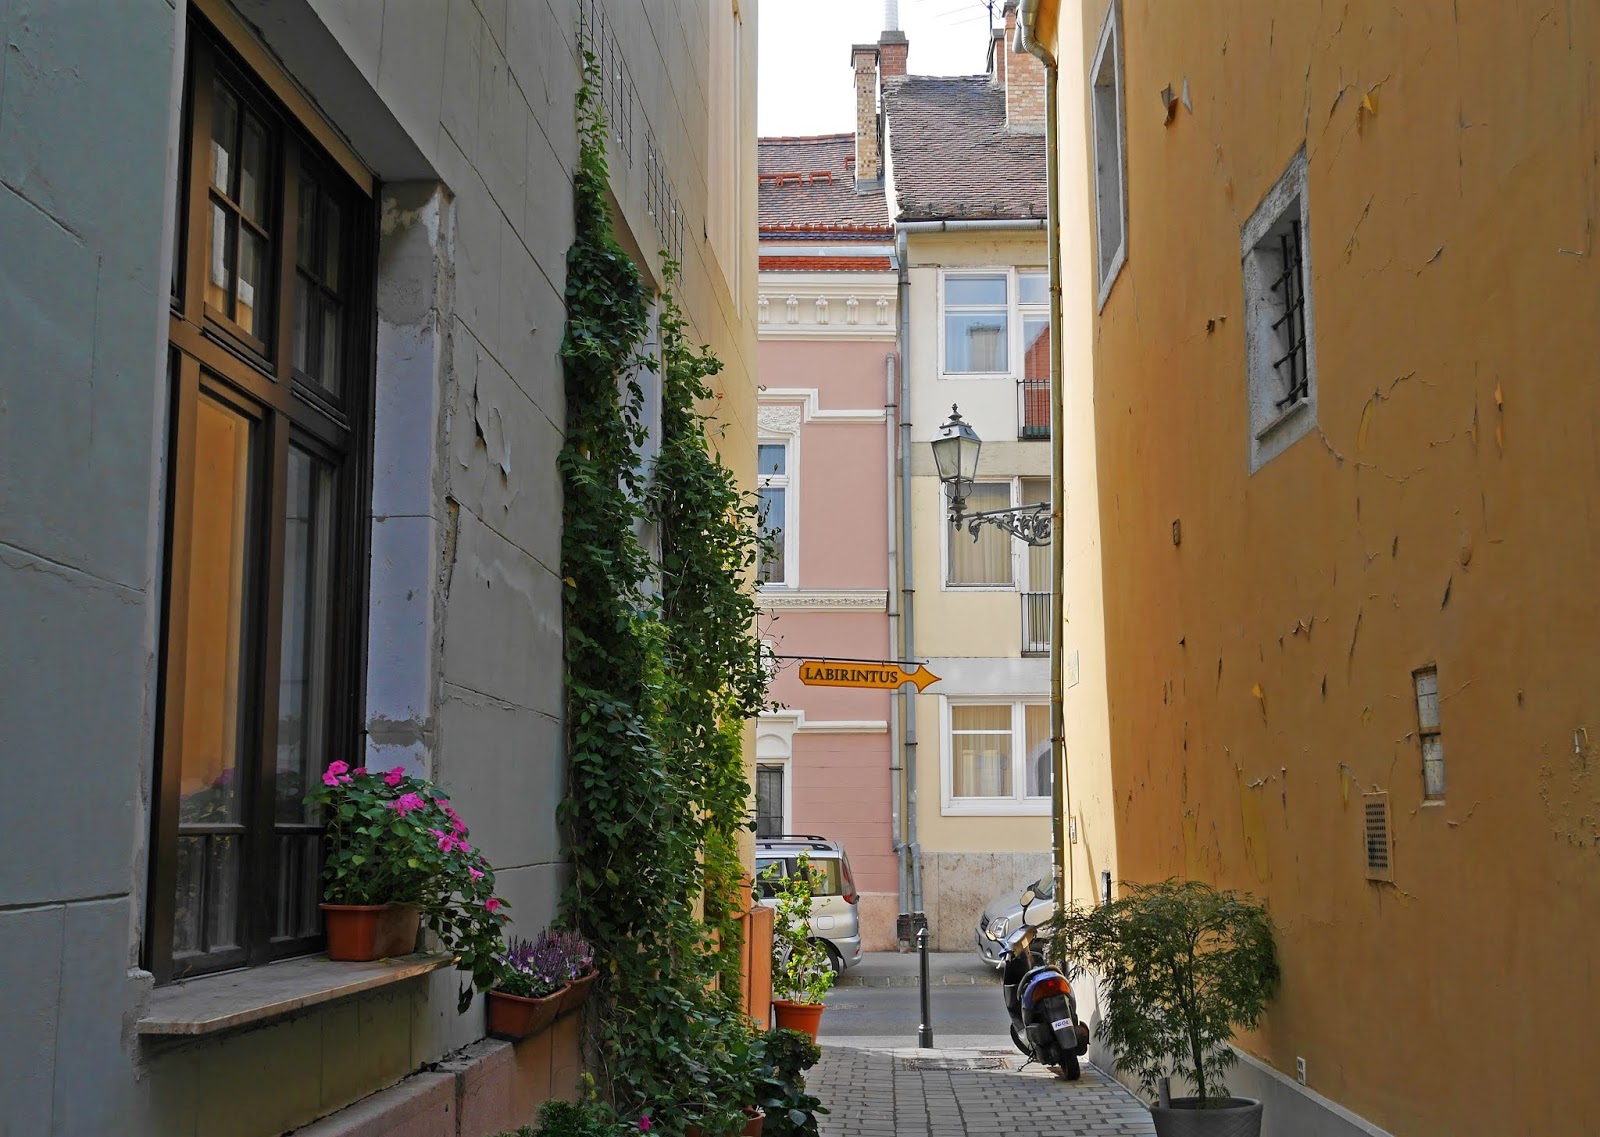
[[808,1073],[830,1113],[822,1137],[1131,1137],[1150,1111],[1091,1065],[1080,1081],[1000,1051],[869,1051],[824,1044]]

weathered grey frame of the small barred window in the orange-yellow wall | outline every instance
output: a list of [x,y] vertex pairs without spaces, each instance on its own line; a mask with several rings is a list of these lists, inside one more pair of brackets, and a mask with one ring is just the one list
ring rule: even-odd
[[[1245,392],[1250,422],[1250,472],[1304,438],[1317,425],[1317,297],[1312,293],[1310,208],[1306,195],[1306,147],[1302,146],[1277,182],[1261,198],[1238,230],[1240,277],[1245,289]],[[1296,216],[1298,214],[1298,216]],[[1278,409],[1283,381],[1272,361],[1282,355],[1272,321],[1282,313],[1269,283],[1282,265],[1274,251],[1275,233],[1299,221],[1302,334],[1306,339],[1306,395]]]

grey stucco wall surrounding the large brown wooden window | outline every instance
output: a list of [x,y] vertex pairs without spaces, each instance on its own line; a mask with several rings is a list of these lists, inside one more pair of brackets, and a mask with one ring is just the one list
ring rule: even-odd
[[[702,78],[702,10],[616,6],[635,125],[704,209],[686,93],[704,94],[678,86]],[[533,934],[566,880],[555,457],[578,2],[235,8],[382,186],[362,758],[450,792]],[[200,1041],[136,1031],[184,21],[184,0],[0,0],[6,1137],[277,1135],[483,1035],[454,972]],[[654,249],[643,190],[642,160],[619,168],[627,240]],[[709,310],[693,257],[691,315]],[[754,315],[741,326],[754,344]]]

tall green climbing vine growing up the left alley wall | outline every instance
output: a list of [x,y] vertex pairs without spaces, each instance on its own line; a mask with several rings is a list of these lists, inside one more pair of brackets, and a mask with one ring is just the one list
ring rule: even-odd
[[[744,724],[766,691],[747,580],[755,502],[707,443],[722,368],[618,243],[595,59],[578,91],[576,237],[566,256],[562,566],[573,860],[563,920],[602,958],[594,1043],[618,1115],[723,1131],[749,1095],[739,999],[738,835],[750,828]],[[661,449],[640,376],[661,379]],[[659,555],[640,541],[653,526]]]

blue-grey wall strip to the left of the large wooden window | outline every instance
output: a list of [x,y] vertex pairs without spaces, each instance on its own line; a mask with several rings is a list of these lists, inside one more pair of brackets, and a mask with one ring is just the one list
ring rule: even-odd
[[173,35],[166,0],[0,0],[0,1132],[19,1137],[117,1132],[133,1092]]

